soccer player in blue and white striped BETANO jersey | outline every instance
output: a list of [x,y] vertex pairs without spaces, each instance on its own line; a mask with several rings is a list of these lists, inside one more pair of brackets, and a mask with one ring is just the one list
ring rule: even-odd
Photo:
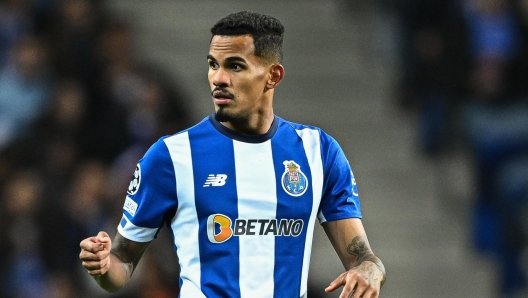
[[342,149],[321,129],[274,114],[284,27],[244,11],[211,32],[215,113],[146,152],[118,233],[83,240],[82,265],[117,291],[165,224],[180,261],[180,297],[304,297],[317,218],[345,267],[325,290],[378,297],[385,269],[369,246]]

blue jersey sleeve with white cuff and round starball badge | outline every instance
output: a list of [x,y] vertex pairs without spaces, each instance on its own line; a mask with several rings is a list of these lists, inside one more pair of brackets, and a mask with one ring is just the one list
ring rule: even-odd
[[117,230],[133,241],[151,241],[176,207],[173,163],[165,143],[159,140],[136,166]]

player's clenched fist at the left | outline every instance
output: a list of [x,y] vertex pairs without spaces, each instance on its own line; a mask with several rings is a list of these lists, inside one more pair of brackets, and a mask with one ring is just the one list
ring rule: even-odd
[[92,276],[105,274],[110,268],[110,249],[112,240],[106,232],[99,232],[97,236],[81,241],[79,259],[82,266]]

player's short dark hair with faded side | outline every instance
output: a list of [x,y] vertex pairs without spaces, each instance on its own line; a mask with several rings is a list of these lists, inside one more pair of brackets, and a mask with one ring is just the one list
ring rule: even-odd
[[211,28],[211,33],[213,36],[250,35],[255,45],[255,56],[282,63],[284,26],[270,15],[252,11],[235,12],[218,21]]

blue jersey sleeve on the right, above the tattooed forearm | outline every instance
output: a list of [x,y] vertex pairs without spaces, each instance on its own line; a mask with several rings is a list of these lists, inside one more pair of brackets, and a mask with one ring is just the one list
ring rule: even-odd
[[339,146],[330,136],[323,135],[324,184],[319,208],[319,223],[345,218],[362,218],[356,180],[350,164]]

